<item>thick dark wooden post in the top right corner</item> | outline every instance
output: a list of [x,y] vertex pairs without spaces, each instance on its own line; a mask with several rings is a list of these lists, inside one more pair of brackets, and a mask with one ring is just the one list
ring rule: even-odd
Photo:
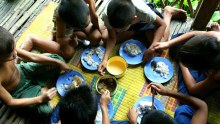
[[202,0],[192,24],[194,30],[205,30],[220,0]]

